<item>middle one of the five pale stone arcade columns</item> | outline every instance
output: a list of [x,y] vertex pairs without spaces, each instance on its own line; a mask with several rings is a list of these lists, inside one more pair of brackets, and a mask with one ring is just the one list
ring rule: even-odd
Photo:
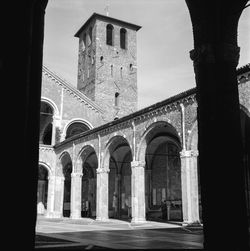
[[107,169],[97,169],[97,186],[96,186],[96,220],[108,221],[108,200],[109,200],[109,186]]

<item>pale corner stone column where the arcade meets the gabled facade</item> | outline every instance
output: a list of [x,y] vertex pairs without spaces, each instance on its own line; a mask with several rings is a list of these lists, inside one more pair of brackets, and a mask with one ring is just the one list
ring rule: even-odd
[[63,216],[64,180],[65,178],[63,176],[55,177],[53,218],[61,218]]

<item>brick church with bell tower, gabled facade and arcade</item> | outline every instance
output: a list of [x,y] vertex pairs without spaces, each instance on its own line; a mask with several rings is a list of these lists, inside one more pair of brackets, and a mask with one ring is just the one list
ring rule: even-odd
[[[202,222],[196,89],[138,110],[140,29],[93,13],[75,34],[77,88],[43,66],[39,215]],[[250,64],[237,69],[248,217],[249,78]]]

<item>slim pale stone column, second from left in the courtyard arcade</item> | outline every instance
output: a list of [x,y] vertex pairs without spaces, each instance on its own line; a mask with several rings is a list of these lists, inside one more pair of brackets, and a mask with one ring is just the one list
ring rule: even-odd
[[70,218],[81,218],[82,173],[71,173]]

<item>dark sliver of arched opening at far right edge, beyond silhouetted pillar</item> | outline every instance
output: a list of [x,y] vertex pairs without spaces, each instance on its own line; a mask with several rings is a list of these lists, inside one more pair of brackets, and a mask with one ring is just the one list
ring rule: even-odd
[[248,225],[250,226],[250,114],[240,110]]

